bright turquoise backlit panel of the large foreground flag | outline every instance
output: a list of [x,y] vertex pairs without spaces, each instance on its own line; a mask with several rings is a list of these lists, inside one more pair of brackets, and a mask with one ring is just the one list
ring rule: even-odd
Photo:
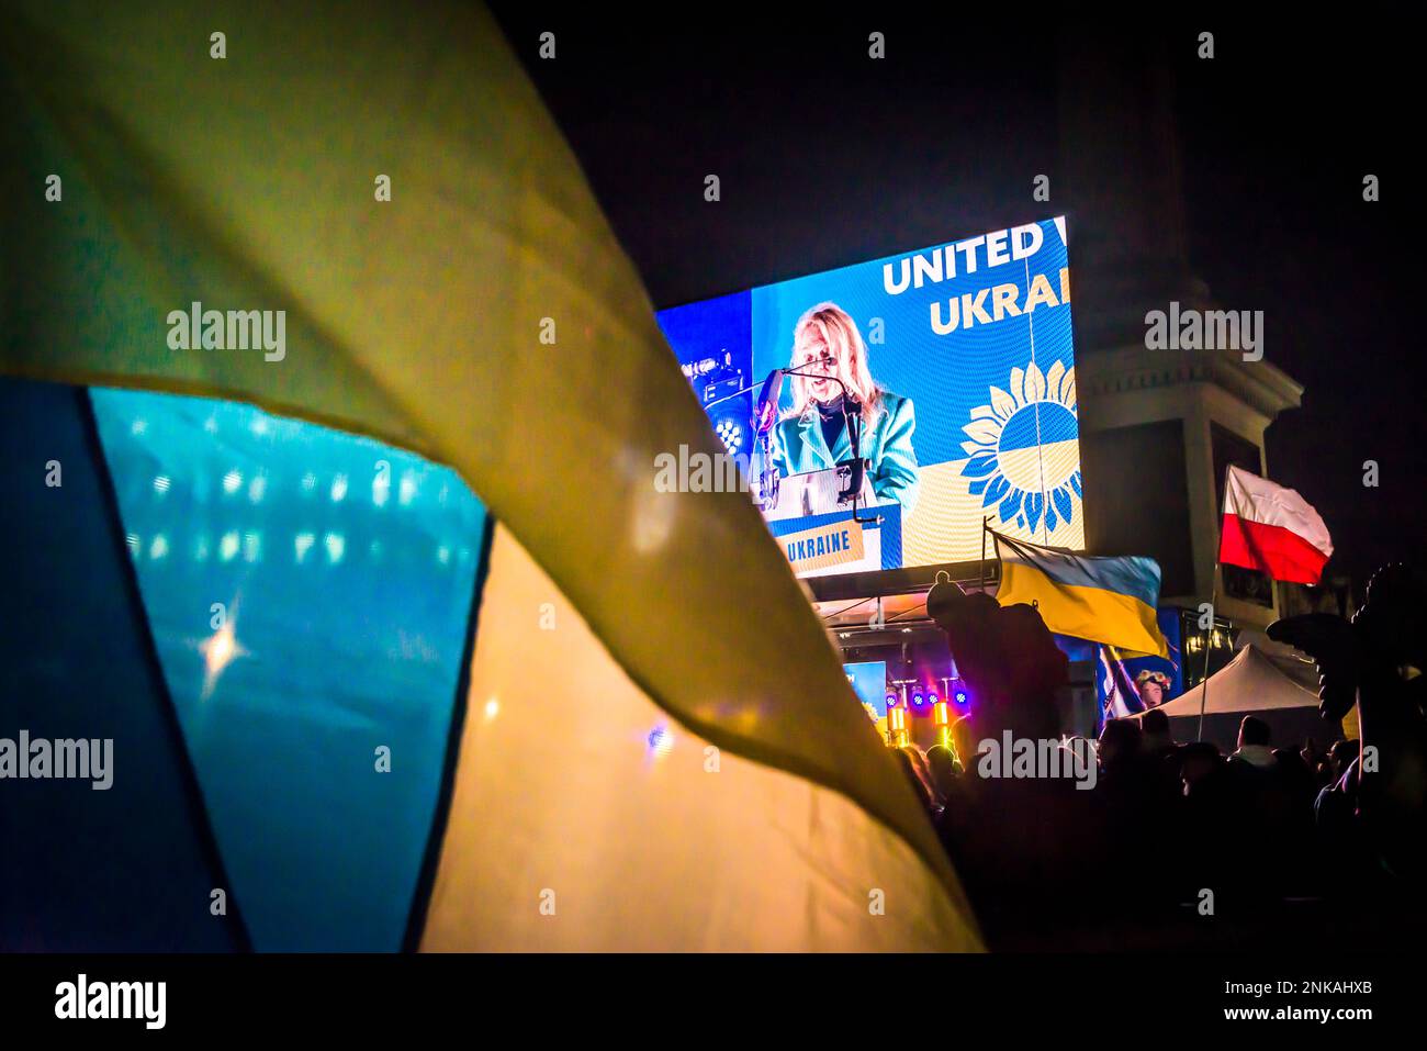
[[[254,947],[400,948],[440,794],[482,506],[448,468],[250,406],[93,398]],[[215,603],[241,654],[211,675]]]

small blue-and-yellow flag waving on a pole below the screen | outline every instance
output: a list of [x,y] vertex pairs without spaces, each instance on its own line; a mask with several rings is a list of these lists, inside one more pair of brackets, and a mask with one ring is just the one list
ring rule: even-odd
[[1046,627],[1137,654],[1169,657],[1159,630],[1160,568],[1140,555],[1103,558],[1052,551],[992,531],[1000,558],[1002,605],[1027,603]]

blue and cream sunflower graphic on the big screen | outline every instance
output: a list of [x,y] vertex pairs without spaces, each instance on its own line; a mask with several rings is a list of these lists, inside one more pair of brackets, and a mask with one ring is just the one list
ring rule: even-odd
[[1042,373],[1032,361],[1012,368],[1010,391],[990,388],[990,404],[972,410],[962,430],[970,457],[962,477],[982,507],[1002,523],[1049,534],[1075,517],[1080,500],[1080,443],[1075,367],[1056,361]]

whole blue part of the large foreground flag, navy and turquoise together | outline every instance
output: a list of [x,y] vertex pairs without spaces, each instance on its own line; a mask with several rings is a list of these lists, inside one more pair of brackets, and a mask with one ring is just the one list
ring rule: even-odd
[[[411,453],[238,403],[0,398],[13,451],[54,464],[4,500],[23,557],[0,598],[0,738],[110,743],[88,778],[6,771],[0,947],[400,948],[481,503]],[[71,615],[26,613],[54,588]]]

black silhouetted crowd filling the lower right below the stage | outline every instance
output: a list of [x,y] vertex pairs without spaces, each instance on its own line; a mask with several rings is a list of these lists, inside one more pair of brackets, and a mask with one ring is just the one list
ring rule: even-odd
[[[979,743],[1005,731],[1089,753],[1059,725],[1066,658],[1032,607],[938,584],[928,611],[977,704],[955,748],[895,753],[987,944],[1287,945],[1286,932],[1329,928],[1390,944],[1396,920],[1420,914],[1427,871],[1424,597],[1408,570],[1387,567],[1353,621],[1314,614],[1270,630],[1319,661],[1324,715],[1359,703],[1360,740],[1274,741],[1247,715],[1226,755],[1174,741],[1164,714],[1149,711],[1104,723],[1090,777],[1065,775],[1069,761],[1059,775],[1003,777],[979,768]],[[1306,918],[1317,922],[1296,922]]]

